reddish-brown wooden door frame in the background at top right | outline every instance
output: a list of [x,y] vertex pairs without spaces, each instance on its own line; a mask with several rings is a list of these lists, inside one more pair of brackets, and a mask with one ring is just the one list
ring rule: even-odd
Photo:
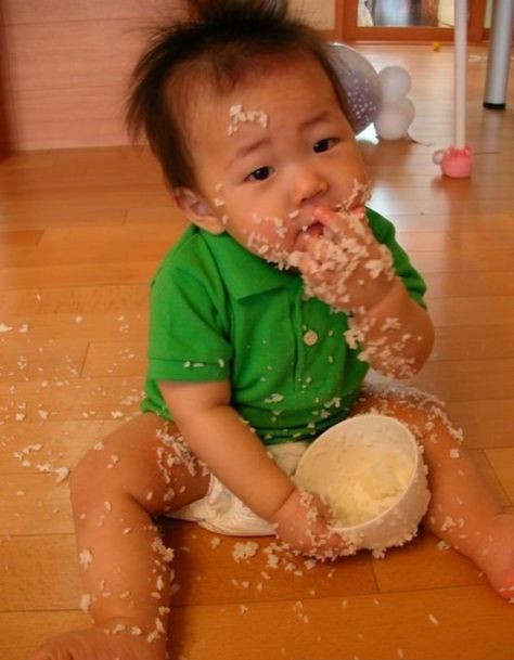
[[[340,41],[453,41],[453,28],[449,27],[358,27],[358,0],[335,0],[335,36]],[[486,0],[470,0],[471,16],[467,40],[484,41],[489,30],[484,28]]]

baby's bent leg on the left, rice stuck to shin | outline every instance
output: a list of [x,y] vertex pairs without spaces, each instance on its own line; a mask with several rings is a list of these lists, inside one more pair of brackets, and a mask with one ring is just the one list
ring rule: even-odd
[[166,658],[172,552],[153,518],[202,497],[209,480],[174,431],[157,416],[141,415],[74,470],[83,605],[94,626],[51,639],[33,660]]

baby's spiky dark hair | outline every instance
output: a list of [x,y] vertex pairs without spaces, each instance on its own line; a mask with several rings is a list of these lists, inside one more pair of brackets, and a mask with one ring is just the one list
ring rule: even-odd
[[188,0],[185,15],[152,30],[132,74],[127,124],[132,139],[146,135],[170,187],[194,187],[184,114],[206,72],[215,88],[229,91],[266,60],[307,55],[343,105],[322,40],[287,9],[287,0]]

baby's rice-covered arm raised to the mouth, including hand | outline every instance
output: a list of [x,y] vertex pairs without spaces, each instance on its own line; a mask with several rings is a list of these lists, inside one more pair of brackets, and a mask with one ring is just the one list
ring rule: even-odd
[[346,339],[360,359],[394,377],[413,376],[426,362],[434,328],[423,307],[395,275],[393,258],[362,213],[320,208],[317,219],[330,237],[308,236],[294,254],[309,293],[349,313]]

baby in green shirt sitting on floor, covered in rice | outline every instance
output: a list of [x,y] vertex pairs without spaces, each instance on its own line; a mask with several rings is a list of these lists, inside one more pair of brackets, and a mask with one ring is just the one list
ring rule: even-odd
[[[369,183],[316,33],[280,0],[190,0],[139,61],[128,111],[191,221],[152,286],[143,414],[82,458],[70,493],[94,624],[33,660],[167,657],[172,549],[155,520],[275,534],[319,559],[351,552],[291,478],[309,441],[381,412],[424,447],[425,526],[514,595],[501,513],[432,397],[362,387],[427,360],[425,285]],[[180,634],[180,632],[176,632]]]

